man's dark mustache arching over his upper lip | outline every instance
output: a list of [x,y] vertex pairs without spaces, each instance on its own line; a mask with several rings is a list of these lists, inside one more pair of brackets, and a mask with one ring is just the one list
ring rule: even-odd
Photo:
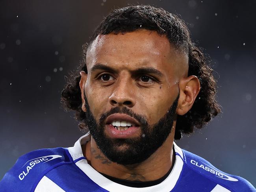
[[143,126],[143,127],[148,126],[147,120],[144,116],[134,113],[131,109],[128,109],[127,107],[114,107],[114,108],[110,109],[109,111],[107,111],[106,113],[103,113],[99,119],[100,126],[104,126],[104,121],[106,120],[106,118],[109,115],[115,114],[115,113],[127,114],[127,115],[131,116],[132,118],[136,119],[138,122],[140,122],[141,126]]

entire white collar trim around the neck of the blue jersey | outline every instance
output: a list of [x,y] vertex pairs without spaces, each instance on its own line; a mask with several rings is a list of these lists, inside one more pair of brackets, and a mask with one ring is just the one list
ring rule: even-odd
[[[85,144],[89,140],[91,140],[91,135],[90,133],[87,133],[76,141],[74,147],[68,148],[69,153],[74,161],[80,157],[83,157],[81,145]],[[167,192],[171,191],[176,185],[184,164],[182,150],[174,142],[173,146],[175,153],[178,153],[175,155],[173,170],[164,181],[154,186],[137,188],[115,183],[98,173],[92,166],[87,163],[86,159],[77,161],[76,166],[78,166],[97,185],[111,192]]]

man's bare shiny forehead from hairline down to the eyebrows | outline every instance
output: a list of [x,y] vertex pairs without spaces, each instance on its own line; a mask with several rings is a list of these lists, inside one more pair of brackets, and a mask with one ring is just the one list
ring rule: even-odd
[[177,68],[187,65],[187,57],[176,50],[164,35],[156,31],[138,30],[98,35],[88,47],[86,63],[88,70],[95,63],[118,64],[117,67],[125,63],[130,67],[140,64],[154,68]]

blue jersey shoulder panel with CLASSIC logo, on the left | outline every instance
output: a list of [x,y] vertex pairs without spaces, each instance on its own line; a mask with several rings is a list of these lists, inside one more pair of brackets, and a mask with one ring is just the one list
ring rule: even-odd
[[54,167],[71,162],[65,148],[40,149],[19,157],[0,181],[1,191],[30,191]]

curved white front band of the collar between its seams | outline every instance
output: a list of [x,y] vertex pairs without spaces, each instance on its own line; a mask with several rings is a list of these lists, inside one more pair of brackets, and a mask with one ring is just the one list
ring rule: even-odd
[[115,183],[93,169],[85,159],[76,162],[76,165],[97,185],[111,192],[167,192],[171,191],[176,185],[183,167],[183,161],[179,155],[176,155],[176,160],[171,174],[161,183],[154,186],[136,188],[124,186]]

